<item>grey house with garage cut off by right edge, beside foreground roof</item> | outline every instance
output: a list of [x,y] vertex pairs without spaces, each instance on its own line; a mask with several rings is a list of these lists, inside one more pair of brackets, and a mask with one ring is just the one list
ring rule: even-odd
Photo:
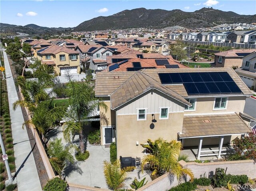
[[242,67],[235,70],[242,81],[256,91],[256,52],[242,58]]

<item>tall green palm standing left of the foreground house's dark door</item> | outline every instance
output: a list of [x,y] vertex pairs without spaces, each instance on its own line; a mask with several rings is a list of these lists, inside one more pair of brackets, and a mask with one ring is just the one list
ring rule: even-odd
[[88,120],[96,115],[101,107],[107,111],[108,107],[103,101],[94,96],[94,85],[88,81],[70,81],[67,87],[70,107],[66,114],[66,123],[63,124],[64,140],[72,141],[72,134],[79,133],[80,152],[84,153],[84,136],[82,127],[88,125]]

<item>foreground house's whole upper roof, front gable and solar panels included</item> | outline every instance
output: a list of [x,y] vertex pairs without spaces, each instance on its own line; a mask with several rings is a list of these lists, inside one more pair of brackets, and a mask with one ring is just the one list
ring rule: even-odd
[[[196,83],[193,82],[193,79],[198,77],[204,83],[207,81],[207,88],[205,89],[207,91],[216,81],[221,80],[222,82],[218,82],[216,85],[219,89],[218,93],[216,91],[209,92],[210,90],[202,93],[205,90],[198,89]],[[166,83],[169,80],[168,78],[170,78],[170,82]],[[172,81],[172,78],[175,82]],[[183,78],[189,84],[179,82]],[[211,81],[209,81],[209,78]],[[177,80],[178,83],[176,83]],[[228,84],[229,92],[226,89],[221,89],[223,84]],[[193,88],[193,86],[195,87]],[[252,95],[250,89],[232,68],[142,69],[131,72],[102,71],[96,74],[95,95],[110,96],[112,109],[151,88],[158,89],[181,102],[184,102],[184,98],[188,96]]]

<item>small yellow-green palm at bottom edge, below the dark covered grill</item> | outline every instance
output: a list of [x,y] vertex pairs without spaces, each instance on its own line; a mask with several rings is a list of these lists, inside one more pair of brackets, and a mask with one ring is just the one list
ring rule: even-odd
[[130,179],[127,177],[127,172],[132,171],[134,167],[120,168],[120,161],[116,160],[113,163],[103,161],[104,175],[109,189],[117,190],[124,187],[124,183]]

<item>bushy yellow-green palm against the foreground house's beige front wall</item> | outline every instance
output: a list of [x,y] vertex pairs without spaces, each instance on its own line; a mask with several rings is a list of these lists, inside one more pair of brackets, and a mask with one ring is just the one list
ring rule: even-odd
[[143,148],[149,150],[151,154],[145,155],[142,159],[142,172],[149,165],[152,176],[160,176],[164,173],[176,175],[177,179],[181,175],[187,174],[193,181],[194,175],[188,168],[182,168],[178,163],[182,144],[176,140],[167,142],[158,138],[154,142],[148,139],[148,144],[141,144]]

